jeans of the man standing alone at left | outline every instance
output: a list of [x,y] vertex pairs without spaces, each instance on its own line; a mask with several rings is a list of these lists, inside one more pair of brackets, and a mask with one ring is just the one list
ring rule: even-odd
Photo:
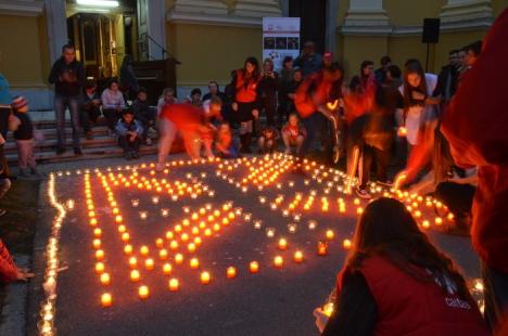
[[65,148],[65,109],[71,113],[73,127],[73,147],[79,148],[79,96],[54,95],[54,112],[56,117],[56,138],[59,148]]

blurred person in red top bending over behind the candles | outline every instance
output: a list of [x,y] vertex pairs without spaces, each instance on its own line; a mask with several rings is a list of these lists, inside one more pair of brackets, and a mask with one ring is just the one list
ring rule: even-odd
[[157,169],[164,169],[177,131],[183,137],[187,154],[192,159],[200,158],[201,145],[204,144],[206,156],[213,157],[212,142],[215,126],[212,118],[220,119],[223,101],[218,96],[212,98],[207,109],[198,108],[191,104],[170,104],[164,106],[160,116],[158,163]]

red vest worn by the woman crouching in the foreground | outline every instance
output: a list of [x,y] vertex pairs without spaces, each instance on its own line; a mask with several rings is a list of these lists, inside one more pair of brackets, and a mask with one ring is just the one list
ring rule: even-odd
[[377,256],[363,262],[361,273],[378,307],[377,336],[488,335],[477,305],[459,299],[452,289],[445,292],[436,282],[417,281]]

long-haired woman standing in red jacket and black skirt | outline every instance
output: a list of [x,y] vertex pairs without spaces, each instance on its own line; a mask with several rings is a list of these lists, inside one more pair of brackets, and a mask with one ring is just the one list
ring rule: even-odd
[[237,121],[240,122],[240,152],[242,153],[252,153],[253,120],[259,118],[257,95],[259,80],[259,63],[255,57],[249,57],[245,60],[243,68],[237,70],[231,82],[233,90],[231,107]]

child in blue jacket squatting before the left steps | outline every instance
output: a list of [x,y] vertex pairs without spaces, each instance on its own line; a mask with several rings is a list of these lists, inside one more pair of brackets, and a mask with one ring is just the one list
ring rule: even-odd
[[124,148],[126,159],[139,158],[139,145],[143,133],[141,122],[135,119],[131,109],[126,109],[116,122],[118,143]]

